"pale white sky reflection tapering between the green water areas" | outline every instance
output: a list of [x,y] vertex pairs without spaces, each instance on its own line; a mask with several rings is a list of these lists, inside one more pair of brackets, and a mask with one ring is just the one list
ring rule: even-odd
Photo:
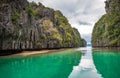
[[80,48],[80,50],[83,52],[80,64],[73,67],[69,78],[102,78],[93,63],[91,47]]

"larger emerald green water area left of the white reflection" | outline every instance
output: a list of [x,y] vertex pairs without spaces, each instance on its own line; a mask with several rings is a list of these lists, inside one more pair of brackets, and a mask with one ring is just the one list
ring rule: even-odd
[[80,51],[0,58],[0,78],[68,78],[79,64]]

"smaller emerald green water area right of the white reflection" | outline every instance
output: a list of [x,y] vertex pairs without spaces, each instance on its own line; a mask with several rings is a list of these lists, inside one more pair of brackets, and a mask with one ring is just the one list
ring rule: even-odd
[[120,51],[93,51],[93,59],[103,78],[120,78]]

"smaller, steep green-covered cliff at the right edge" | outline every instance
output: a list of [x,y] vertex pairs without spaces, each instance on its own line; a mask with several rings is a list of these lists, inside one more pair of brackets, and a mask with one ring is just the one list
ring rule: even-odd
[[120,47],[120,0],[107,0],[106,14],[95,24],[94,47]]

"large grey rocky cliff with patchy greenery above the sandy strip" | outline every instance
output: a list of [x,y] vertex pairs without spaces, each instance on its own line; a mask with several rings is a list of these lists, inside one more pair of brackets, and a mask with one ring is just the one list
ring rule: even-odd
[[27,0],[0,0],[0,50],[85,46],[60,11]]

